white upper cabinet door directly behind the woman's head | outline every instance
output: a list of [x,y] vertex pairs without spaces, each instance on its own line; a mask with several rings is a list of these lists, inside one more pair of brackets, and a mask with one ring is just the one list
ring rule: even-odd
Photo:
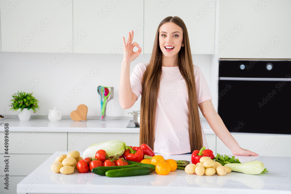
[[152,54],[159,23],[168,16],[184,21],[192,54],[210,54],[214,50],[215,1],[146,0],[144,6],[144,54]]

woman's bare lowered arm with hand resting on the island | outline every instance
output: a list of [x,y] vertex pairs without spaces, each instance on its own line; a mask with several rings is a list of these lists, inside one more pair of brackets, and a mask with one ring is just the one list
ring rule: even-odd
[[204,118],[207,120],[211,129],[221,139],[221,141],[232,151],[233,155],[241,156],[258,156],[255,152],[247,149],[242,149],[237,141],[233,138],[227,130],[218,113],[215,111],[211,100],[206,100],[198,104]]

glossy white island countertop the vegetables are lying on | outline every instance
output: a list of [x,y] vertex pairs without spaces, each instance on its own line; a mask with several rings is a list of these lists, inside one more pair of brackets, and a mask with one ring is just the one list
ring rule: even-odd
[[[198,176],[176,170],[168,175],[153,172],[144,176],[110,178],[91,172],[54,173],[50,166],[60,154],[63,152],[54,153],[19,182],[17,193],[291,193],[289,157],[236,156],[242,163],[259,159],[269,170],[265,175],[230,172],[224,176]],[[164,158],[190,161],[191,155],[164,155]]]

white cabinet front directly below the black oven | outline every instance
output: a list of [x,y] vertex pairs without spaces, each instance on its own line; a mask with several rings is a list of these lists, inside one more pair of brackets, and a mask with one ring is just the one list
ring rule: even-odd
[[[231,133],[240,147],[259,154],[259,156],[291,157],[291,135]],[[217,137],[216,152],[233,155],[230,149]]]

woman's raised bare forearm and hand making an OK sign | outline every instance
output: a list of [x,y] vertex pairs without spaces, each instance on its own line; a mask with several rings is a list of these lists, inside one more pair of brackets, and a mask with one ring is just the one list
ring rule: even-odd
[[138,51],[134,52],[134,47],[139,47],[139,45],[133,40],[133,31],[132,33],[128,33],[127,42],[125,42],[125,38],[123,38],[123,61],[121,63],[121,75],[119,82],[119,104],[121,108],[127,109],[134,105],[137,100],[137,96],[132,92],[130,86],[130,63],[136,59],[136,57],[141,54],[141,48]]

